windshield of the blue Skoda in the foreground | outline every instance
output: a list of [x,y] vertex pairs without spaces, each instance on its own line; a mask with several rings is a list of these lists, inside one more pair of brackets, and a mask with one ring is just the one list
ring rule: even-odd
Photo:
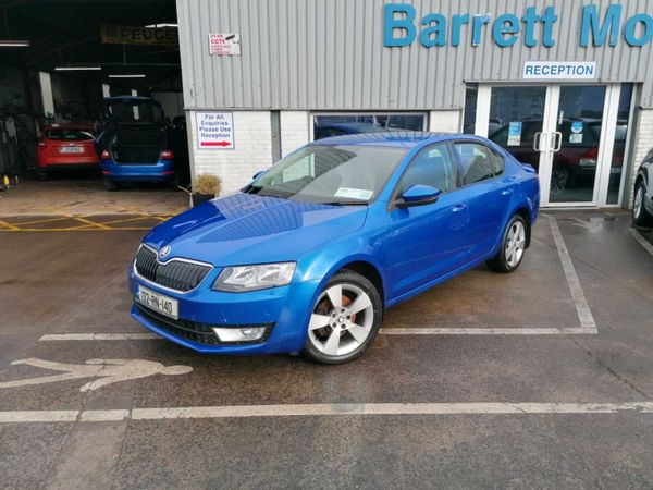
[[367,204],[405,154],[403,148],[307,146],[276,162],[244,192],[308,203]]

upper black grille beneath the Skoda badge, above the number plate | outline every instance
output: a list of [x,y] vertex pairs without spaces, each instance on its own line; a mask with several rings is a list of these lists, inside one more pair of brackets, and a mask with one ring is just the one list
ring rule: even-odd
[[172,259],[167,264],[157,261],[157,253],[141,246],[136,254],[136,272],[148,281],[171,290],[194,290],[207,277],[210,266]]

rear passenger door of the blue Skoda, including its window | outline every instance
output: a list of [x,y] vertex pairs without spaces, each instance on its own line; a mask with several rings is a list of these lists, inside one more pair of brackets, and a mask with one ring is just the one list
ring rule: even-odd
[[514,193],[512,176],[505,175],[505,159],[477,142],[455,142],[460,193],[467,199],[469,261],[485,257],[501,237]]

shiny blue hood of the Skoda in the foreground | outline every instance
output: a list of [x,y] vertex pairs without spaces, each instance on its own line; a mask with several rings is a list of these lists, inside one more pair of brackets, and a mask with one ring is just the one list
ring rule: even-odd
[[367,206],[238,193],[159,224],[144,242],[156,249],[169,245],[164,260],[183,257],[215,266],[287,261],[360,229],[366,216]]

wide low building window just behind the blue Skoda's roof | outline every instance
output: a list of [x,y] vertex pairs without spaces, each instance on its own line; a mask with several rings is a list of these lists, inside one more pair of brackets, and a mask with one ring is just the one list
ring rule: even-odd
[[313,114],[313,140],[346,134],[426,131],[426,112]]

